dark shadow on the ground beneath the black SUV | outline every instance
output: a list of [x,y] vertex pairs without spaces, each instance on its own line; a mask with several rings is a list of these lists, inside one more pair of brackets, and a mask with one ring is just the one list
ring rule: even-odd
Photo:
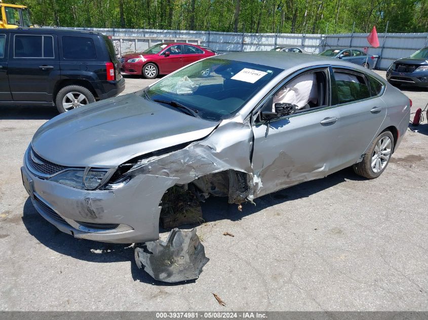
[[50,120],[57,115],[56,107],[0,106],[0,119],[3,120]]

